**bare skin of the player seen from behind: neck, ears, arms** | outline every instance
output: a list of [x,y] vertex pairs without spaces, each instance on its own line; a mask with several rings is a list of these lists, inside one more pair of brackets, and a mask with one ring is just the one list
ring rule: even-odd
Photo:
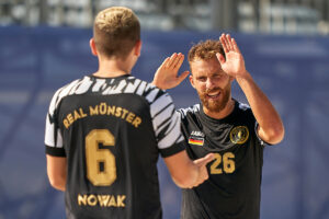
[[[90,39],[91,53],[99,59],[99,69],[94,76],[101,78],[113,78],[129,74],[138,57],[140,56],[141,42],[138,41],[125,59],[109,58],[97,50],[93,38]],[[66,189],[67,159],[52,155],[47,157],[47,174],[52,186],[59,191]],[[209,153],[204,158],[191,161],[186,151],[164,158],[164,163],[171,174],[173,182],[183,188],[200,185],[208,178],[206,164],[214,160]]]

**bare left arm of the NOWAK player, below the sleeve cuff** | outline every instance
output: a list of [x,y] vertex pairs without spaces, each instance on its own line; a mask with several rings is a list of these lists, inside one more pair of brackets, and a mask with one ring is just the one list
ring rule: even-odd
[[47,174],[50,185],[58,189],[65,191],[66,186],[66,158],[47,155]]

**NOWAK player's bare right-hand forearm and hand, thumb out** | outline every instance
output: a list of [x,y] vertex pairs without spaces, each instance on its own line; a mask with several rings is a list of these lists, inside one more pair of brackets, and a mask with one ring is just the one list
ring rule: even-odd
[[206,164],[214,160],[214,154],[191,161],[184,150],[163,160],[173,182],[182,188],[191,188],[208,178]]

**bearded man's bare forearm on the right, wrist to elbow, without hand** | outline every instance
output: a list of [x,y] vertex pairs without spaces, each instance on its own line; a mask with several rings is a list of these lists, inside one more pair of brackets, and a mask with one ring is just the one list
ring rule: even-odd
[[259,123],[259,135],[269,143],[277,143],[283,139],[284,127],[279,113],[256,84],[249,72],[243,77],[236,78],[238,84],[242,89],[252,113]]

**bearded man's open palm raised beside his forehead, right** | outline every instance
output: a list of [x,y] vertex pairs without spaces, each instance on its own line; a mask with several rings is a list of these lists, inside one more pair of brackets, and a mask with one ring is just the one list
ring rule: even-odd
[[229,76],[237,78],[247,73],[243,56],[237,45],[237,42],[229,34],[222,34],[219,41],[223,45],[225,57],[216,54],[220,62],[222,69]]

